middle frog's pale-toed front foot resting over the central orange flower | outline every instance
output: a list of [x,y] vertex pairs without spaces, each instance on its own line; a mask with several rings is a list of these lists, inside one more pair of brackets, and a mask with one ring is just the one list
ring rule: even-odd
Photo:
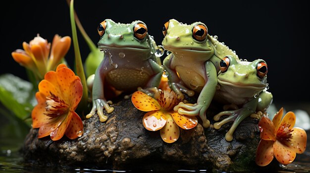
[[185,104],[180,102],[178,105],[174,106],[174,111],[178,111],[181,115],[196,116],[199,115],[203,121],[203,126],[208,128],[210,126],[210,121],[207,119],[206,110],[207,106],[203,104]]

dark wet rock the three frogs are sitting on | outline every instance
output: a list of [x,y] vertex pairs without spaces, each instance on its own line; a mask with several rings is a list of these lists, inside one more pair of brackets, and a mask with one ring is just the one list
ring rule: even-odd
[[[70,140],[66,137],[52,141],[38,139],[38,129],[27,135],[22,154],[26,162],[36,164],[87,165],[113,170],[176,172],[177,170],[207,170],[207,172],[255,172],[278,169],[272,162],[266,167],[255,164],[259,142],[258,119],[246,118],[236,129],[231,142],[225,133],[232,123],[215,130],[203,128],[201,121],[191,130],[180,130],[180,138],[165,143],[159,131],[144,128],[145,112],[136,109],[131,99],[114,101],[114,111],[108,120],[99,121],[97,115],[83,120],[84,134]],[[222,105],[212,103],[208,119],[221,111]],[[223,117],[224,118],[224,117]]]

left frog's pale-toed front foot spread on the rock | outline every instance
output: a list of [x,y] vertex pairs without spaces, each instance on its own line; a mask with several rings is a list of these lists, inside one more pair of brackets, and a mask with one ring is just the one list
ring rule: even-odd
[[101,122],[104,122],[107,120],[107,116],[103,114],[103,107],[105,108],[106,112],[107,113],[111,113],[113,112],[114,110],[114,107],[110,107],[109,104],[112,104],[111,101],[105,101],[103,99],[96,99],[96,100],[93,100],[93,107],[92,107],[92,110],[89,114],[86,115],[86,118],[90,118],[92,117],[93,115],[96,114],[96,111],[97,111],[97,114],[100,118],[100,121]]

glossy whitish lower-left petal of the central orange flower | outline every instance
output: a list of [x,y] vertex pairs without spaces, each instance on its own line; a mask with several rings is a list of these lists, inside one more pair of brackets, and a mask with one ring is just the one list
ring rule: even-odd
[[143,116],[143,126],[149,131],[161,129],[167,122],[167,117],[162,111],[150,111]]

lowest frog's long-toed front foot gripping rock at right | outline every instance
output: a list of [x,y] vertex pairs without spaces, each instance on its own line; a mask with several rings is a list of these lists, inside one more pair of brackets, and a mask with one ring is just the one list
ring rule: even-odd
[[225,135],[225,139],[227,141],[231,141],[233,139],[233,133],[235,132],[238,125],[248,116],[254,113],[253,110],[249,110],[248,108],[240,108],[237,110],[226,110],[216,114],[213,119],[218,121],[221,116],[229,115],[227,118],[223,119],[220,122],[214,123],[214,129],[220,129],[222,125],[234,121],[232,126],[230,127],[229,131]]

